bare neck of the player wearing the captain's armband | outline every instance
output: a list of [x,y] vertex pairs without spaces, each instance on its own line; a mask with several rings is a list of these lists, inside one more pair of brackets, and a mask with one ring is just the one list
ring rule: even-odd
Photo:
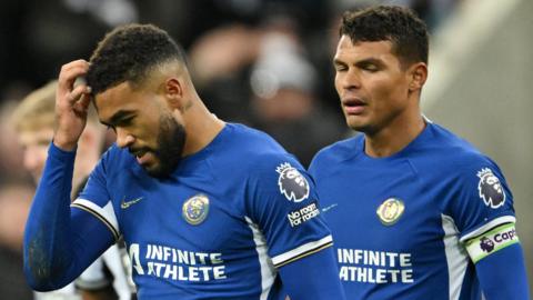
[[386,158],[400,152],[425,128],[420,112],[414,118],[393,121],[373,134],[365,133],[364,152],[373,158]]

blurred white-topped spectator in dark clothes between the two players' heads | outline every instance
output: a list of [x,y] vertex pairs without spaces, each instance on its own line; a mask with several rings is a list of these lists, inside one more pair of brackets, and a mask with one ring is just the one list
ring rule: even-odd
[[250,78],[253,126],[270,133],[309,166],[316,151],[343,132],[342,121],[315,100],[318,74],[290,28],[263,36]]

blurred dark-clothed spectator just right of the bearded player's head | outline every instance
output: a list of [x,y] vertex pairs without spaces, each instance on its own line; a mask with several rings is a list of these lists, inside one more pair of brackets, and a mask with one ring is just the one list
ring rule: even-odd
[[223,119],[250,122],[248,69],[258,57],[260,39],[258,29],[231,24],[209,31],[191,48],[199,93]]

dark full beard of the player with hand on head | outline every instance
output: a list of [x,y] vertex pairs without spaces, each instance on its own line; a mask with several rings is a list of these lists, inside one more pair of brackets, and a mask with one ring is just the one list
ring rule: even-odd
[[163,114],[159,122],[158,150],[154,151],[159,163],[147,172],[157,178],[168,177],[174,171],[181,160],[185,144],[185,128],[172,116]]

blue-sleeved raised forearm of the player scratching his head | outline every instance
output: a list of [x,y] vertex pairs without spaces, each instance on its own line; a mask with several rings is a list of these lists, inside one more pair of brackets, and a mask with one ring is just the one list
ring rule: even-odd
[[51,146],[24,232],[24,273],[36,290],[70,282],[70,190],[76,152]]

